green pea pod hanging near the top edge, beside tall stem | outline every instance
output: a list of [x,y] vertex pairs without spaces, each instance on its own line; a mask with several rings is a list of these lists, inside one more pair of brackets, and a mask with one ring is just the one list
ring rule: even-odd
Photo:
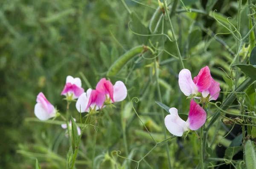
[[152,34],[157,32],[157,29],[160,25],[160,22],[163,17],[163,11],[160,9],[160,6],[156,9],[153,16],[151,17],[150,23],[149,23],[149,30]]

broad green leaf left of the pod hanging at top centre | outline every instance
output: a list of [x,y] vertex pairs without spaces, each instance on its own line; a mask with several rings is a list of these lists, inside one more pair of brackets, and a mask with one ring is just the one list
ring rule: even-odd
[[[136,13],[132,12],[131,13],[131,24],[132,25],[132,31],[136,32],[138,34],[149,34],[149,29],[145,27],[140,21],[140,18],[137,16]],[[148,36],[140,36],[140,35],[134,35],[136,36],[138,42],[140,45],[144,44],[146,45],[148,43]]]

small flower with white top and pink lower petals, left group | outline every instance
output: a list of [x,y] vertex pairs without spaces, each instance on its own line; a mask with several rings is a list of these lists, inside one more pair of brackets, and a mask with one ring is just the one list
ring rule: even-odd
[[84,92],[84,89],[81,88],[81,86],[82,82],[79,77],[74,78],[72,76],[67,76],[66,84],[61,95],[73,95],[73,99],[77,99]]

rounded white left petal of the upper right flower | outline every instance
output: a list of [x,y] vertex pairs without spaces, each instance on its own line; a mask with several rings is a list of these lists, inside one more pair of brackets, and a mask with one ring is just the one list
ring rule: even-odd
[[197,94],[197,87],[192,80],[191,72],[188,69],[182,69],[179,73],[179,86],[184,95]]

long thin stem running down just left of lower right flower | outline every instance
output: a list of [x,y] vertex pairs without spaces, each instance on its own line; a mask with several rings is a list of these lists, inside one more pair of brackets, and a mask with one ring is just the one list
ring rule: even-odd
[[[155,77],[156,77],[156,82],[157,82],[157,93],[158,93],[158,97],[159,97],[159,100],[160,102],[162,103],[163,100],[162,100],[162,96],[161,96],[161,91],[160,91],[160,86],[159,86],[159,83],[158,83],[158,77],[157,77],[157,60],[155,59],[154,60],[154,69],[155,69]],[[163,133],[164,133],[164,139],[166,139],[166,129],[165,129],[165,125],[164,125],[164,112],[163,112],[163,109],[161,109],[161,114],[162,114],[162,124],[163,124]],[[169,162],[169,169],[172,168],[172,164],[171,164],[171,158],[170,158],[170,153],[169,153],[169,146],[168,146],[168,143],[166,142],[165,143],[166,145],[166,152],[167,152],[167,158],[168,158],[168,162]]]

